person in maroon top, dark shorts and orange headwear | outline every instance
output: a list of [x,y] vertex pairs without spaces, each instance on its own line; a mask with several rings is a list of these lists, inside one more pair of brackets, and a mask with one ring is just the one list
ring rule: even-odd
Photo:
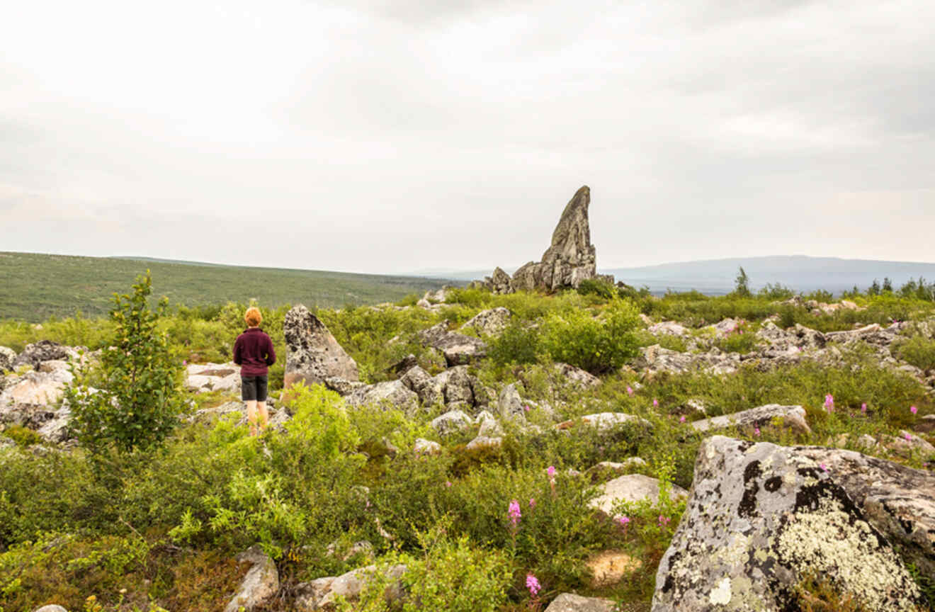
[[243,315],[247,329],[237,336],[234,343],[234,363],[240,366],[240,397],[247,403],[247,420],[250,421],[250,434],[257,434],[256,407],[260,406],[259,431],[266,429],[269,413],[266,412],[266,373],[267,367],[276,363],[276,351],[273,341],[260,329],[263,315],[258,308],[247,308]]

